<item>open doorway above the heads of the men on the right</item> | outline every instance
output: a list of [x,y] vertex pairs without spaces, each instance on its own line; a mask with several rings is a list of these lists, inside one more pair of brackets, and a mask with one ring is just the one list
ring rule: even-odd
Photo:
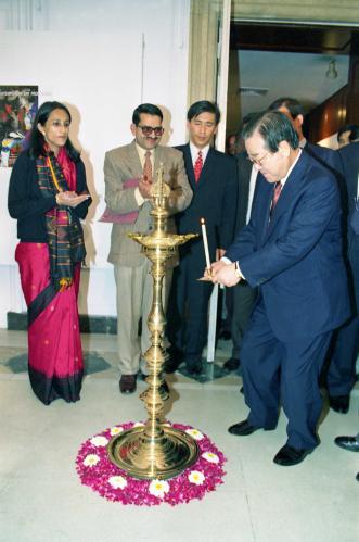
[[358,45],[355,27],[232,21],[227,135],[285,96],[305,106],[308,139],[335,149],[338,128],[359,122]]

